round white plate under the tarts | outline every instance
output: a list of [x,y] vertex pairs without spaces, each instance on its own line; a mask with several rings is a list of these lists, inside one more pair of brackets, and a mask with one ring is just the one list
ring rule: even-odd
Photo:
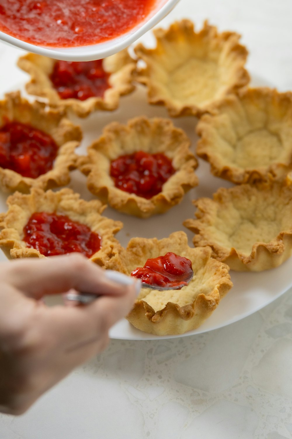
[[[253,85],[269,85],[261,78],[253,78]],[[19,88],[19,87],[16,87]],[[79,153],[84,154],[86,147],[91,141],[102,133],[102,128],[109,122],[117,120],[127,122],[127,119],[137,115],[147,115],[149,117],[160,116],[167,117],[165,108],[150,106],[146,103],[146,92],[142,86],[128,96],[121,99],[120,108],[115,112],[96,112],[87,119],[73,118],[74,122],[81,125],[84,132],[84,140],[79,148]],[[192,148],[196,143],[195,125],[196,119],[193,117],[182,117],[172,119],[173,123],[183,128],[192,140]],[[194,207],[191,200],[197,197],[211,195],[220,186],[232,187],[233,185],[225,180],[211,175],[209,165],[200,160],[197,169],[199,177],[199,186],[191,190],[183,199],[183,202],[166,212],[163,215],[153,216],[149,219],[139,219],[123,215],[111,208],[107,208],[104,215],[113,219],[120,219],[124,223],[123,229],[116,235],[123,246],[131,237],[157,237],[161,239],[168,236],[176,230],[184,230],[189,237],[190,246],[192,246],[193,234],[182,226],[183,220],[194,216]],[[85,177],[74,171],[69,187],[81,194],[81,197],[90,200],[93,197],[85,185]],[[6,210],[6,197],[0,195],[0,211]],[[4,255],[0,258],[4,260]],[[261,273],[238,273],[231,271],[231,278],[234,284],[233,288],[226,297],[220,302],[218,308],[204,324],[194,331],[187,332],[178,336],[158,337],[146,334],[132,327],[127,320],[121,320],[110,331],[111,338],[129,339],[129,340],[147,340],[158,338],[174,338],[187,335],[199,334],[205,331],[228,325],[242,319],[258,309],[266,306],[281,294],[292,287],[291,259],[286,261],[280,267],[263,271]]]

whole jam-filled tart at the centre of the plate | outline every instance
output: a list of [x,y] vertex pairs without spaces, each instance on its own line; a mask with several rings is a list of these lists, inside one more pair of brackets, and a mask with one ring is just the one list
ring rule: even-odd
[[166,212],[197,186],[190,140],[169,119],[113,122],[80,158],[89,191],[114,209],[147,218]]

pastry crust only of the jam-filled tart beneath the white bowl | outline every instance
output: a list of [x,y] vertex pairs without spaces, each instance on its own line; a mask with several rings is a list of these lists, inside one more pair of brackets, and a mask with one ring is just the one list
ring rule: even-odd
[[127,49],[103,59],[103,68],[110,73],[111,87],[106,90],[104,97],[90,97],[85,101],[60,98],[49,79],[55,62],[54,59],[32,53],[19,58],[18,67],[31,76],[26,90],[29,94],[46,98],[52,107],[72,110],[79,117],[86,117],[96,110],[115,110],[119,106],[120,96],[134,90],[132,82],[136,61],[130,57]]

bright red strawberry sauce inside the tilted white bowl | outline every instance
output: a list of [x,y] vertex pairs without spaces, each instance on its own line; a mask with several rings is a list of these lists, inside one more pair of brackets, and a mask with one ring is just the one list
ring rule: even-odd
[[156,0],[1,0],[0,30],[47,47],[112,40],[133,29]]

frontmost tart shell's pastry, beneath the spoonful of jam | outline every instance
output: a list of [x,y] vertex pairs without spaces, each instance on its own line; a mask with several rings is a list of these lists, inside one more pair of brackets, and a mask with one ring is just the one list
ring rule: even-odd
[[232,288],[229,267],[211,257],[211,248],[190,248],[186,234],[180,231],[161,240],[132,238],[123,255],[124,273],[130,275],[148,258],[167,252],[191,260],[193,279],[181,290],[142,288],[127,316],[134,327],[155,335],[183,334],[197,328]]

